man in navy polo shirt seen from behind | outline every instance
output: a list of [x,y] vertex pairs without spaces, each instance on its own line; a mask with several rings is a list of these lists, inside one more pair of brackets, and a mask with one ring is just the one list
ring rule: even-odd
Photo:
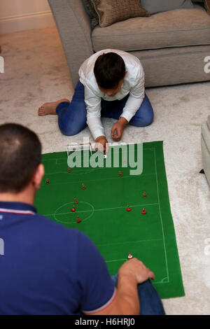
[[36,213],[44,168],[34,132],[1,125],[0,156],[0,314],[164,314],[142,262],[125,262],[116,288],[87,236]]

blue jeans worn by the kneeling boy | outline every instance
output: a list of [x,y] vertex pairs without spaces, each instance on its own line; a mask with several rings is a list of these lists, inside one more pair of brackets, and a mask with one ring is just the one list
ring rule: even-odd
[[[101,116],[118,120],[123,113],[123,108],[127,102],[129,94],[113,102],[108,102],[102,99]],[[72,136],[81,132],[87,127],[87,110],[85,106],[84,86],[80,81],[76,85],[71,103],[62,102],[56,109],[58,115],[58,125],[62,134]],[[153,122],[153,108],[151,102],[145,94],[144,101],[140,109],[130,120],[130,125],[136,127],[145,127]]]

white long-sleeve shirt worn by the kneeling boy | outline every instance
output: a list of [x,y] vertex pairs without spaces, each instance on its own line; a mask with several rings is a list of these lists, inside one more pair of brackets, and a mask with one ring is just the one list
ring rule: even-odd
[[[94,77],[94,63],[99,55],[106,52],[116,52],[120,55],[125,62],[125,71],[127,71],[120,91],[113,97],[99,90],[97,80]],[[144,69],[139,59],[128,52],[116,49],[100,50],[83,62],[78,73],[80,82],[85,87],[87,125],[94,139],[105,136],[101,120],[102,99],[111,102],[116,99],[123,99],[127,94],[130,94],[121,114],[121,117],[125,118],[127,122],[135,115],[144,100]]]

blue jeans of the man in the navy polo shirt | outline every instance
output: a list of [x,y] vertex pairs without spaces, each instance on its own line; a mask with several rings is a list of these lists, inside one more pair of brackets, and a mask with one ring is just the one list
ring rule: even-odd
[[[115,286],[117,286],[118,274],[111,276],[111,279],[113,279]],[[138,284],[138,293],[140,302],[139,315],[165,315],[162,301],[151,280]]]

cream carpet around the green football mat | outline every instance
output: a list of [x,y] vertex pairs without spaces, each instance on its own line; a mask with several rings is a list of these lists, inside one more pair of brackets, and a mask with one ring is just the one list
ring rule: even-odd
[[[65,151],[69,141],[90,137],[86,128],[64,137],[57,116],[38,117],[43,102],[72,96],[66,59],[55,27],[1,36],[5,73],[0,73],[0,122],[34,130],[43,153]],[[184,72],[183,72],[184,73]],[[210,78],[210,76],[209,76]],[[210,189],[202,169],[200,126],[210,115],[210,83],[147,90],[155,119],[151,126],[128,126],[123,141],[164,141],[172,216],[186,297],[164,300],[167,314],[210,314]],[[114,120],[104,119],[106,134]]]

